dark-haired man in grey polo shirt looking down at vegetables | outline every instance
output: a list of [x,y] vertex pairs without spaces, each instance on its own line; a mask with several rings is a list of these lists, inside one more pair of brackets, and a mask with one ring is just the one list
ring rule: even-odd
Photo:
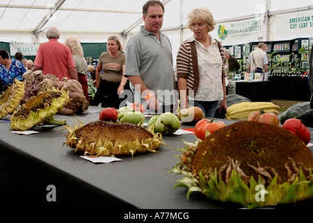
[[[129,39],[124,75],[129,78],[141,104],[150,112],[170,112],[174,103],[175,77],[172,46],[163,35],[164,6],[160,1],[147,1],[143,6],[144,26]],[[135,93],[135,100],[136,100]]]

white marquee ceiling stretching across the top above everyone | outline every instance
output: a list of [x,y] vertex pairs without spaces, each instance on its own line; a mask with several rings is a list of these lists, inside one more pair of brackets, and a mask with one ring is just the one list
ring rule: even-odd
[[[0,33],[41,33],[57,26],[61,33],[121,33],[142,24],[147,0],[0,0]],[[205,6],[216,20],[310,5],[311,0],[161,0],[166,6],[163,29],[186,24],[192,8]]]

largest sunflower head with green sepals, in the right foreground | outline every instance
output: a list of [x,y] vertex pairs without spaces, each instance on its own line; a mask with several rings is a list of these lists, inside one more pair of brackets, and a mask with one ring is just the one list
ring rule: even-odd
[[209,199],[248,208],[313,199],[313,155],[283,128],[241,121],[204,141],[186,142],[170,172],[182,174],[177,186]]

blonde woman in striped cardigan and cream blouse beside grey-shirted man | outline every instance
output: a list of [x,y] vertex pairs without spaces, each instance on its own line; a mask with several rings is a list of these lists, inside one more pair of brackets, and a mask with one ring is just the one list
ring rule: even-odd
[[219,111],[227,109],[225,54],[223,46],[209,35],[215,24],[209,9],[193,9],[188,14],[188,28],[193,31],[193,36],[182,43],[177,53],[182,108],[193,103],[202,109],[206,117],[214,117],[219,101]]

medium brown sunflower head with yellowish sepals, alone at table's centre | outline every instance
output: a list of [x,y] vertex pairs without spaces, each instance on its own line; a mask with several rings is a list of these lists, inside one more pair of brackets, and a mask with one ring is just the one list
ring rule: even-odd
[[84,155],[131,155],[135,153],[156,153],[162,143],[161,134],[146,130],[132,123],[93,121],[83,125],[75,123],[68,130],[64,144]]

